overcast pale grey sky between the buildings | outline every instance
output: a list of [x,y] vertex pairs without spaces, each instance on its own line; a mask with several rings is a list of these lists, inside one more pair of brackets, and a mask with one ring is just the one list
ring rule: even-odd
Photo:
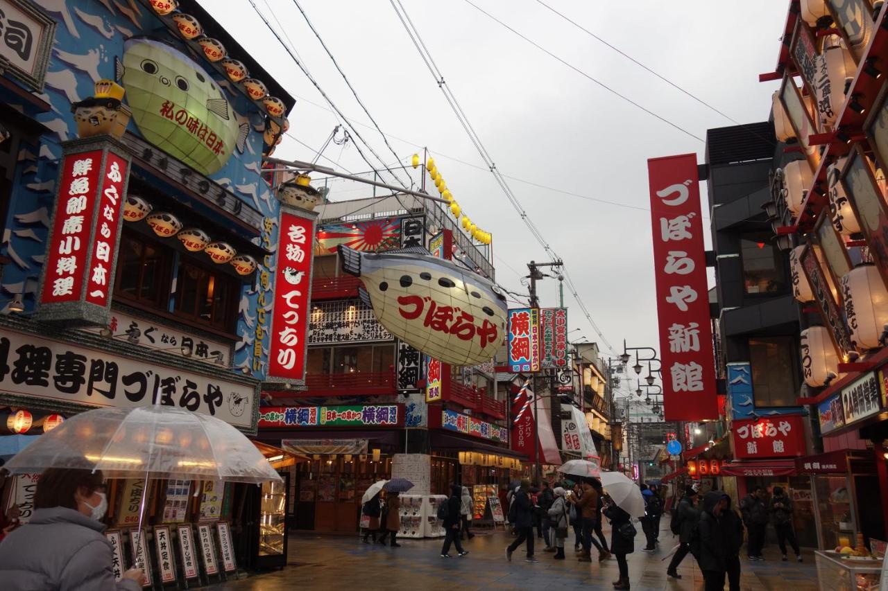
[[[369,120],[293,0],[255,1],[274,28],[279,28],[275,18],[282,24],[306,67],[361,135],[392,162],[379,134],[361,125]],[[402,164],[423,146],[429,148],[464,211],[493,232],[497,280],[526,292],[515,271],[526,274],[527,261],[545,260],[543,249],[528,236],[490,173],[457,162],[483,168],[389,0],[298,1],[390,136]],[[248,2],[201,2],[297,98],[290,131],[313,150],[284,138],[274,155],[311,160],[337,117]],[[623,338],[630,346],[659,348],[646,159],[695,152],[703,162],[703,142],[615,97],[464,0],[402,2],[497,169],[551,187],[510,181],[528,215],[564,258],[607,341],[618,350]],[[473,2],[699,138],[709,128],[733,125],[535,0]],[[772,71],[776,63],[788,2],[546,2],[735,121],[767,119],[778,83],[758,83],[757,75]],[[345,169],[368,169],[353,147],[331,145],[324,155]],[[331,186],[334,201],[369,195],[361,185]],[[705,200],[705,185],[701,193]],[[709,220],[704,224],[709,232]],[[543,281],[544,306],[558,303],[556,287],[556,280]],[[569,295],[567,304],[570,326],[582,329],[572,339],[585,335],[606,350]]]

